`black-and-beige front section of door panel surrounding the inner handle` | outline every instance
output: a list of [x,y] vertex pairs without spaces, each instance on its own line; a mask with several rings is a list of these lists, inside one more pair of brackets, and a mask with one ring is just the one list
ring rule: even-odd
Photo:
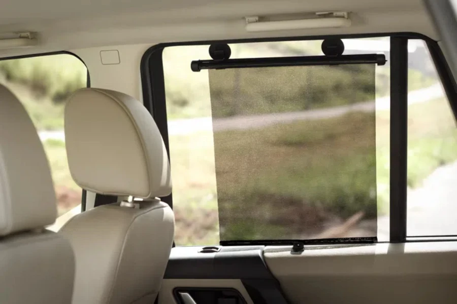
[[[220,250],[216,252],[205,247],[172,249],[159,293],[163,303],[170,303],[176,288],[189,287],[236,289],[247,303],[253,304],[288,303],[278,280],[267,268],[263,255],[265,246],[217,248]],[[214,304],[219,302],[216,300]]]

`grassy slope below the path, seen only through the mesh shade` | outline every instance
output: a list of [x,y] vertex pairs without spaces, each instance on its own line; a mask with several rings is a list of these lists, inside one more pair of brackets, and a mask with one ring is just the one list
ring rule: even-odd
[[[214,136],[225,239],[290,239],[291,226],[300,233],[318,229],[333,216],[358,211],[376,216],[374,114],[354,112]],[[300,210],[306,212],[292,219]],[[289,234],[273,237],[269,233],[275,229],[265,227],[255,235],[239,234],[232,223],[239,226],[240,219],[280,225]]]

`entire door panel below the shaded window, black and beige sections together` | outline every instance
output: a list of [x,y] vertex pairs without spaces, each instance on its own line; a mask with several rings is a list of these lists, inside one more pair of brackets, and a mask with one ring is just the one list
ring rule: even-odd
[[247,304],[457,300],[457,242],[315,245],[301,254],[291,248],[224,246],[202,253],[203,247],[175,247],[159,303],[181,304],[177,291],[186,288],[236,290]]

